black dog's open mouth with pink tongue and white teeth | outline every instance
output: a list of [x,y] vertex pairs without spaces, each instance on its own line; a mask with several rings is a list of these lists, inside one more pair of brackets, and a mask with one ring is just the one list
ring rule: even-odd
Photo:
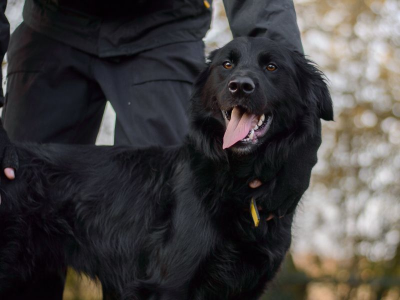
[[256,143],[258,138],[265,135],[272,122],[272,114],[253,114],[240,106],[222,110],[222,115],[226,124],[223,149],[238,142],[240,144]]

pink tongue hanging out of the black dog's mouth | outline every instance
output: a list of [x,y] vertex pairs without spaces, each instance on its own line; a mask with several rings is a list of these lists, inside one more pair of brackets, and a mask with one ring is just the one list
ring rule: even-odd
[[237,106],[233,107],[228,126],[223,135],[222,148],[229,148],[240,139],[246,137],[248,131],[254,128],[256,123],[257,117],[255,114],[243,113]]

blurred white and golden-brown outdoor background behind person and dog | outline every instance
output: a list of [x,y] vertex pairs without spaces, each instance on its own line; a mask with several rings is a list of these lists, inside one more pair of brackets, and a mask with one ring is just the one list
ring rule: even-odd
[[[400,2],[294,3],[304,51],[329,79],[335,121],[323,122],[291,251],[262,300],[400,299]],[[11,30],[22,5],[8,0]],[[221,0],[213,8],[207,51],[231,39]],[[107,105],[98,144],[112,144],[114,120]],[[100,298],[98,283],[68,272],[64,299]]]

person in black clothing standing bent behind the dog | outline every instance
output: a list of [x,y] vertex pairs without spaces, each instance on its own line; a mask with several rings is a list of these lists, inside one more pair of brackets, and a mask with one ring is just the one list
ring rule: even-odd
[[[9,45],[5,6],[2,0],[0,57],[8,49],[8,68],[0,99],[11,140],[92,144],[109,100],[115,144],[182,141],[210,0],[26,0]],[[292,0],[224,6],[233,37],[265,36],[302,53]],[[64,277],[38,263],[31,278],[15,282],[13,299],[61,299]]]

